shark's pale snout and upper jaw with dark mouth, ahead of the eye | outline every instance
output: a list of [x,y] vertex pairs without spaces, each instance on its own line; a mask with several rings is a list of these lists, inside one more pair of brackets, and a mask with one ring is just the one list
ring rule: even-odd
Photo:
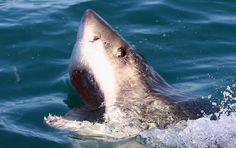
[[[115,41],[114,43],[112,43]],[[116,98],[116,72],[110,59],[110,46],[123,39],[94,11],[87,10],[80,22],[77,42],[71,56],[69,73],[72,84],[86,104],[106,106]],[[108,47],[109,44],[109,47]]]

